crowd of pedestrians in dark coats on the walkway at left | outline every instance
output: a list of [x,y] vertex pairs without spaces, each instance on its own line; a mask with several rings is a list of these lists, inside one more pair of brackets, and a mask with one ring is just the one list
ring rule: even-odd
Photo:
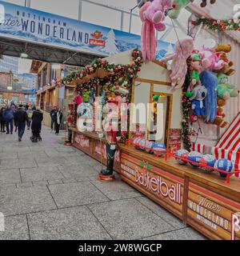
[[[50,112],[51,118],[51,132],[54,130],[55,134],[59,134],[62,122],[62,110],[58,106]],[[1,133],[14,134],[18,132],[18,142],[22,142],[22,137],[27,130],[32,130],[30,140],[32,142],[42,141],[43,114],[39,107],[36,106],[16,106],[12,103],[9,106],[2,106],[0,110]]]

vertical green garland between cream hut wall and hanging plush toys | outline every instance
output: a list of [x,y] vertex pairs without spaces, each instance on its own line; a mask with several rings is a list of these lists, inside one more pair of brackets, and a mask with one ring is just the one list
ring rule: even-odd
[[190,126],[190,110],[192,103],[189,98],[186,97],[186,91],[190,85],[190,59],[187,60],[188,73],[186,74],[186,79],[182,88],[182,142],[184,149],[190,151],[191,142],[189,134]]

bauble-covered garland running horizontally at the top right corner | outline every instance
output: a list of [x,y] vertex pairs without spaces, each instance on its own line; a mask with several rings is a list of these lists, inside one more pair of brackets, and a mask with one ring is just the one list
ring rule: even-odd
[[199,18],[196,22],[193,22],[195,26],[203,24],[203,26],[209,30],[214,31],[225,31],[225,30],[235,30],[240,31],[240,20],[239,19],[229,19],[229,20],[217,20],[209,18]]

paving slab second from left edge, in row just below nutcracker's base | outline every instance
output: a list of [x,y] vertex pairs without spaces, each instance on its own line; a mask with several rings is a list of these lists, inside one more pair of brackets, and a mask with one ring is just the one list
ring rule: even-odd
[[90,182],[50,185],[49,189],[58,208],[82,206],[109,200]]

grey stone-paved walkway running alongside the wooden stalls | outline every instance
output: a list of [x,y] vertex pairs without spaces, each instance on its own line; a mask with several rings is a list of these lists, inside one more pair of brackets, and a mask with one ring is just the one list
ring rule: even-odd
[[63,146],[0,134],[2,239],[204,239],[119,178],[98,182],[100,164]]

